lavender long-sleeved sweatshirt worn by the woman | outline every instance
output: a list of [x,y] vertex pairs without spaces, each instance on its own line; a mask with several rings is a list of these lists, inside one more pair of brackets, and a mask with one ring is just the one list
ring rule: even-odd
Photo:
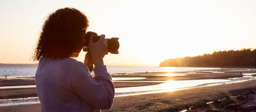
[[73,59],[41,57],[35,74],[42,112],[100,112],[110,109],[114,85],[106,66],[87,66]]

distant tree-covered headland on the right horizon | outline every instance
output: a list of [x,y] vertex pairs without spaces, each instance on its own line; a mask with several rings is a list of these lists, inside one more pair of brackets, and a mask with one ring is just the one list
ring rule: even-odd
[[160,66],[173,67],[256,67],[256,49],[215,51],[212,54],[164,60]]

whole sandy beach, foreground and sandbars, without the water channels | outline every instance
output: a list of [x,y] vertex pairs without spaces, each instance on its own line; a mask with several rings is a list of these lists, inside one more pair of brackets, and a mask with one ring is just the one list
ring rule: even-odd
[[[256,71],[250,71],[246,73],[255,72]],[[176,74],[177,76],[167,76],[170,74]],[[160,83],[164,83],[164,81],[167,80],[229,79],[239,78],[242,76],[243,75],[240,72],[225,72],[214,75],[208,72],[196,74],[192,73],[189,75],[186,75],[185,72],[154,72],[148,73],[147,75],[145,75],[145,73],[112,75],[113,78],[143,78],[138,80],[114,81],[115,88],[157,85]],[[1,79],[0,86],[35,85],[35,80],[32,79]],[[0,91],[0,99],[37,97],[36,88],[0,89]],[[198,87],[192,89],[178,90],[174,92],[160,92],[152,94],[115,97],[112,108],[110,110],[102,110],[102,112],[180,112],[182,110],[186,110],[187,112],[221,112],[225,109],[232,110],[233,106],[228,108],[228,105],[230,104],[237,104],[237,110],[248,110],[248,105],[252,105],[250,106],[250,108],[252,109],[254,109],[254,106],[256,107],[255,93],[256,80],[250,80],[241,83],[230,83],[221,84],[218,86]],[[244,100],[234,100],[237,97],[241,96]],[[228,102],[231,103],[223,103],[227,102],[227,100],[229,100]],[[247,101],[247,103],[244,103],[245,101]],[[0,106],[0,112],[40,111],[40,104]],[[249,112],[250,111],[251,110],[249,109]]]

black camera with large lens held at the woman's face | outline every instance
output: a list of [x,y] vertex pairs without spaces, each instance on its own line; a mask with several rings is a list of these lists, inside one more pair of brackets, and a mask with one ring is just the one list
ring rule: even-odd
[[[100,35],[98,35],[95,32],[87,32],[85,35],[85,41],[84,41],[84,46],[83,46],[83,51],[88,52],[88,43],[89,43],[89,35],[93,34],[93,43],[97,42],[100,38]],[[111,54],[118,54],[118,49],[119,49],[119,42],[118,42],[118,37],[112,37],[112,38],[106,38],[108,40],[108,52]]]

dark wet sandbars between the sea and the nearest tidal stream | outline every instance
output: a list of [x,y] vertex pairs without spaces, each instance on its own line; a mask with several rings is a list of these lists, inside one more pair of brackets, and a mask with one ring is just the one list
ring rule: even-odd
[[[143,75],[141,73],[134,73],[134,75],[112,75],[113,78],[145,78],[139,80],[123,80],[123,81],[140,81],[140,82],[119,82],[122,80],[114,81],[115,88],[122,87],[135,87],[135,86],[150,86],[157,85],[163,82],[146,82],[146,81],[168,81],[168,80],[195,80],[195,79],[227,79],[236,78],[243,75],[236,74],[191,74],[184,76],[164,76],[169,74],[169,72],[153,72],[153,75]],[[34,77],[23,77],[23,78],[13,78],[13,79],[1,79],[0,86],[26,86],[35,85]],[[143,82],[144,81],[144,82]],[[36,88],[18,88],[18,89],[0,89],[0,99],[10,99],[10,98],[26,98],[26,97],[36,97]]]

